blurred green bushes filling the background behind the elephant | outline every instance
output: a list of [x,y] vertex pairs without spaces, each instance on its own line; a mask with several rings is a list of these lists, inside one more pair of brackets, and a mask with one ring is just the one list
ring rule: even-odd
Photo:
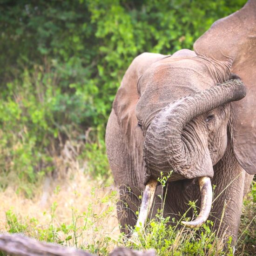
[[0,2],[0,188],[15,180],[32,196],[27,184],[54,172],[67,140],[108,176],[105,127],[133,58],[192,49],[246,0]]

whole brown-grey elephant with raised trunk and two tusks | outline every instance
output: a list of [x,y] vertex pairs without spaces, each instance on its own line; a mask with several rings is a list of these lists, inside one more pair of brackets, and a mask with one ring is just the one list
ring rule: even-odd
[[182,224],[195,228],[209,219],[236,241],[243,196],[256,174],[255,82],[256,0],[217,20],[194,51],[143,53],[132,61],[106,128],[121,231],[155,216],[164,175],[163,216],[179,220],[189,201],[201,202],[199,216],[192,220],[189,210],[191,221]]

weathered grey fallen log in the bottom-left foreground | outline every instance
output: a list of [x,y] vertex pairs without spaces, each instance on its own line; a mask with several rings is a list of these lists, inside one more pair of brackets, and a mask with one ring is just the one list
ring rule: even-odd
[[[0,234],[0,251],[14,256],[93,256],[81,249],[39,242],[20,234]],[[115,248],[110,256],[155,256],[155,250],[142,252],[128,248]]]

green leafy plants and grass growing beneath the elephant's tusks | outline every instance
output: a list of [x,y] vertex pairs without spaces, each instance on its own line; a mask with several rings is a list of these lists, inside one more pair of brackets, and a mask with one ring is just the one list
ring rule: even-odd
[[[226,237],[217,236],[216,231],[212,232],[213,222],[207,221],[201,228],[188,229],[181,227],[181,220],[186,219],[186,213],[193,209],[195,217],[198,215],[195,202],[189,201],[189,209],[181,216],[179,221],[175,218],[170,220],[170,217],[163,216],[163,208],[168,189],[168,179],[172,172],[164,176],[161,172],[161,177],[158,182],[162,185],[162,195],[158,195],[162,201],[162,208],[158,209],[155,218],[147,222],[146,228],[135,227],[135,234],[131,238],[125,239],[125,246],[133,249],[144,250],[154,248],[157,255],[233,255],[233,247],[231,245],[232,238],[229,237],[226,242]],[[166,187],[166,189],[164,189]],[[164,195],[163,195],[164,193]],[[170,222],[172,224],[170,225]],[[133,233],[133,230],[130,230]],[[227,247],[224,249],[224,245]]]

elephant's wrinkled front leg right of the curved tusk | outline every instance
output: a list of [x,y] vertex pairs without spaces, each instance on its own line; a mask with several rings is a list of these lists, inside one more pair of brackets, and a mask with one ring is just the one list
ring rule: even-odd
[[212,184],[214,191],[213,209],[210,219],[215,223],[214,229],[233,237],[236,243],[243,206],[245,171],[239,165],[228,142],[226,153],[214,167]]

